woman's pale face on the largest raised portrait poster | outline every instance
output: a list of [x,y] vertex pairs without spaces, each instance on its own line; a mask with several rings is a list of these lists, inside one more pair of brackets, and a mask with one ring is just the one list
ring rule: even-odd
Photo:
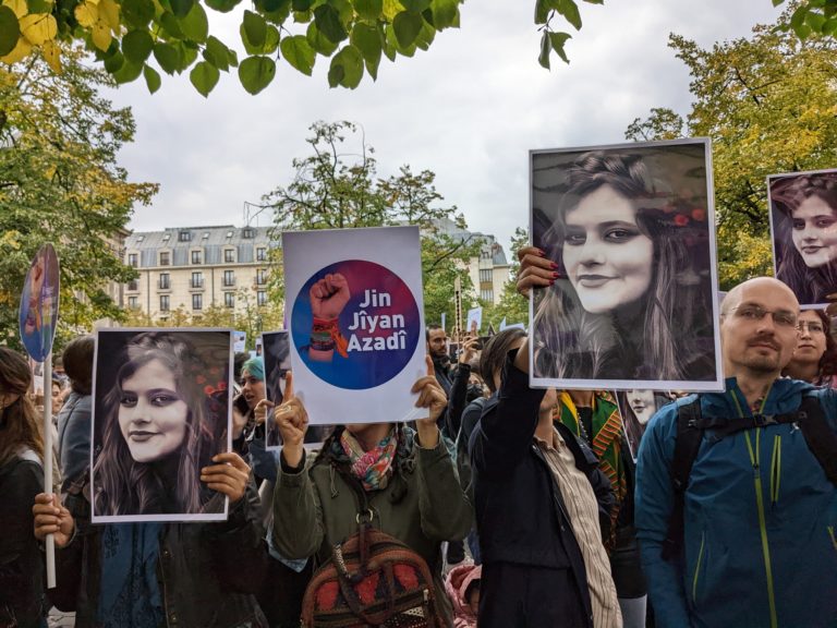
[[609,185],[567,213],[563,265],[585,311],[610,312],[651,286],[654,243],[636,222],[633,203]]

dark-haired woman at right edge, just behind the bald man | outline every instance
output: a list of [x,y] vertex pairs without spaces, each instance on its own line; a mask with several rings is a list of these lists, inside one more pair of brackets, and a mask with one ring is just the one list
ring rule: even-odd
[[837,374],[837,342],[830,325],[830,318],[822,310],[805,310],[799,314],[797,350],[783,375],[814,386],[832,386]]

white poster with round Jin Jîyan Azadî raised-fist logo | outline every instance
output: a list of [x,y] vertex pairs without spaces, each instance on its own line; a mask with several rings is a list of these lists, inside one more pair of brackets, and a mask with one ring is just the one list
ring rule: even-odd
[[412,421],[426,374],[417,227],[282,234],[294,390],[313,425]]

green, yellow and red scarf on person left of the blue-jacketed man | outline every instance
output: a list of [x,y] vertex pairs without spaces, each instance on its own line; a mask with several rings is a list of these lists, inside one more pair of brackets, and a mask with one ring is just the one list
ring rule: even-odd
[[610,542],[606,544],[610,550],[616,541],[616,519],[628,495],[628,482],[621,456],[624,425],[619,414],[619,406],[609,392],[596,390],[593,394],[593,433],[582,434],[579,411],[570,394],[563,390],[558,395],[558,406],[553,413],[553,419],[567,425],[577,436],[586,436],[585,440],[598,458],[598,468],[610,480],[616,495],[616,506],[610,511]]

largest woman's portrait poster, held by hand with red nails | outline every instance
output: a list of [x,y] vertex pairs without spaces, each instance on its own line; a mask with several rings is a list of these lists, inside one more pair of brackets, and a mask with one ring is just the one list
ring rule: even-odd
[[530,159],[532,386],[723,390],[708,140]]

